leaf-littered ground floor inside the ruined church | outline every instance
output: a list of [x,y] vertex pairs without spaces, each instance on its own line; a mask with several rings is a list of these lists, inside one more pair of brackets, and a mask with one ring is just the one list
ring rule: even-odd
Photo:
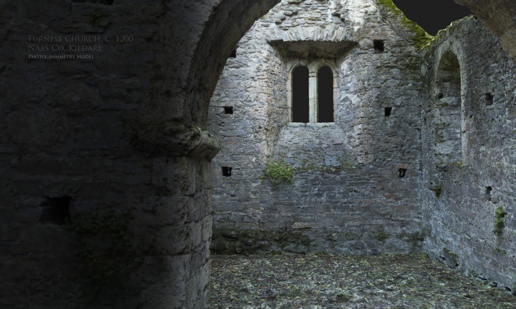
[[516,308],[421,254],[212,255],[207,308]]

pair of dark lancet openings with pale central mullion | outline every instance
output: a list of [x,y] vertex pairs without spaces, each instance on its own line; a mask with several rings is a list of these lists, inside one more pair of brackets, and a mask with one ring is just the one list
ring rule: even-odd
[[317,72],[299,65],[292,71],[292,122],[332,123],[333,71],[327,65]]

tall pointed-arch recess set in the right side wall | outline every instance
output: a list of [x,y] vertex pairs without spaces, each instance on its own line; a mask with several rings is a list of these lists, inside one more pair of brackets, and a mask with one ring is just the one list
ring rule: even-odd
[[462,99],[457,56],[445,52],[437,69],[434,93],[433,155],[437,169],[462,163]]

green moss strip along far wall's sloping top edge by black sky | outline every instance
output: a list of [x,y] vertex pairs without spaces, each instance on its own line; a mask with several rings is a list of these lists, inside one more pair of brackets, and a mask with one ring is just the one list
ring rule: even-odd
[[[417,23],[409,20],[405,14],[396,7],[396,5],[392,2],[392,0],[378,0],[378,5],[382,7],[383,12],[386,13],[384,17],[386,18],[396,18],[397,22],[407,30],[413,33],[412,36],[408,37],[412,43],[418,48],[423,49],[433,37],[429,35],[423,28],[421,28]],[[382,12],[380,11],[380,14]]]

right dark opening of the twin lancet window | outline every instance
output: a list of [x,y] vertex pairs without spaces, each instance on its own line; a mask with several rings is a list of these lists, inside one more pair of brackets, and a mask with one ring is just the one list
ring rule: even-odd
[[333,122],[333,72],[327,65],[317,72],[317,122]]

